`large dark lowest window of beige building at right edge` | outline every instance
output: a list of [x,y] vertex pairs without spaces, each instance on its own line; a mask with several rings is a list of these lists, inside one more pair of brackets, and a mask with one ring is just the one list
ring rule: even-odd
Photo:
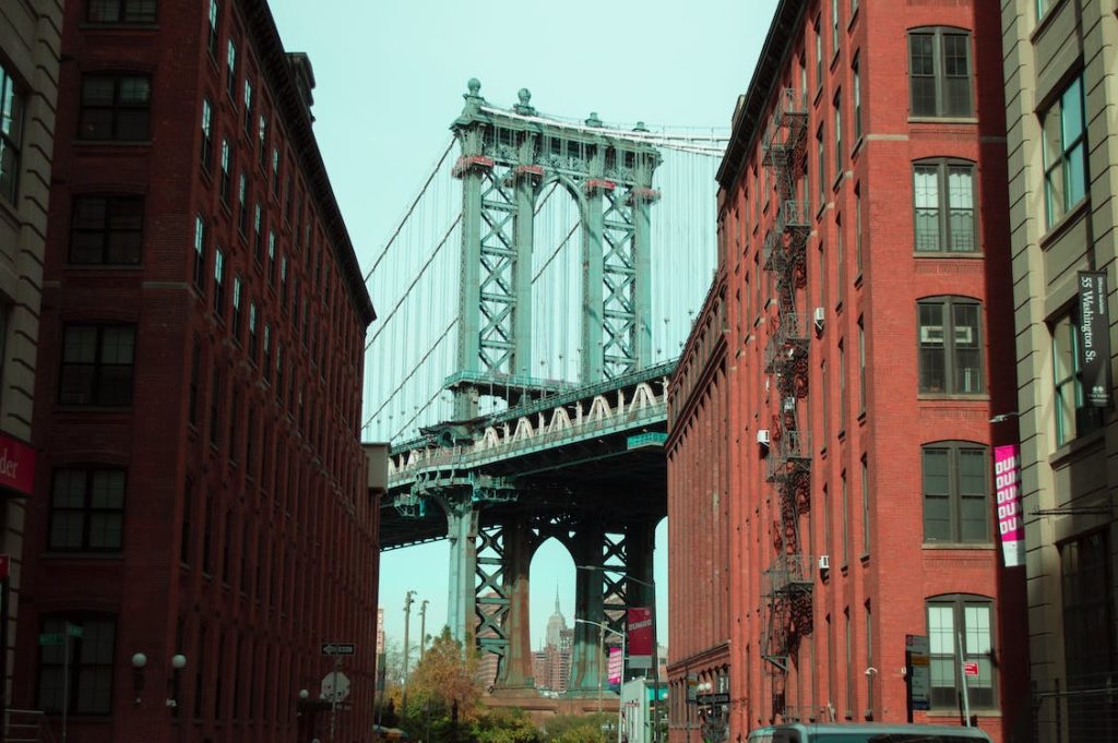
[[[1069,686],[1114,674],[1115,645],[1110,607],[1110,540],[1106,532],[1078,536],[1060,545],[1063,582],[1063,641]],[[1089,740],[1079,736],[1074,740]]]

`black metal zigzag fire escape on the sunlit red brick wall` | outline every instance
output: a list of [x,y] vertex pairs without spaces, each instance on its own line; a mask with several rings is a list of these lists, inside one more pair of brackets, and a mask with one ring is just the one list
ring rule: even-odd
[[[771,688],[771,715],[798,718],[787,705],[785,689],[792,658],[812,631],[811,558],[803,553],[800,516],[811,506],[811,432],[799,426],[807,397],[807,346],[811,318],[797,298],[807,284],[807,237],[811,232],[805,160],[807,112],[792,88],[780,91],[765,133],[764,165],[775,180],[777,212],[765,239],[765,269],[773,277],[778,317],[765,349],[766,372],[776,381],[780,403],[769,429],[766,479],[777,493],[779,518],[774,523],[774,559],[765,571],[762,590],[767,621],[761,638]],[[803,302],[803,299],[800,299]]]

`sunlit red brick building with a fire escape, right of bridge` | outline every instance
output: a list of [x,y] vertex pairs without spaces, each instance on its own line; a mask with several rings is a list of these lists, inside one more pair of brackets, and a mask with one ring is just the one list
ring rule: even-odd
[[[907,635],[916,721],[958,724],[966,683],[996,741],[1027,723],[989,422],[1015,390],[999,35],[977,0],[778,3],[670,389],[676,741],[697,713],[729,740],[903,722]],[[689,676],[730,703],[689,709]]]

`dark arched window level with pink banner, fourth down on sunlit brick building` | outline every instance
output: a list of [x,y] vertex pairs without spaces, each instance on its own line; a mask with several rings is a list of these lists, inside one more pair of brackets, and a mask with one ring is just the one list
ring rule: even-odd
[[940,441],[921,449],[923,541],[989,542],[989,467],[986,447]]

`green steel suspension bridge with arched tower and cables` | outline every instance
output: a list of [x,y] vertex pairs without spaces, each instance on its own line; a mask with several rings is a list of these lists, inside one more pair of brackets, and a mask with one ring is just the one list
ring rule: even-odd
[[[531,685],[529,568],[558,540],[576,619],[655,606],[667,381],[716,265],[726,136],[501,108],[453,136],[366,276],[363,440],[391,444],[381,547],[451,543],[448,623]],[[605,618],[605,619],[604,619]],[[598,689],[576,621],[569,689]]]

